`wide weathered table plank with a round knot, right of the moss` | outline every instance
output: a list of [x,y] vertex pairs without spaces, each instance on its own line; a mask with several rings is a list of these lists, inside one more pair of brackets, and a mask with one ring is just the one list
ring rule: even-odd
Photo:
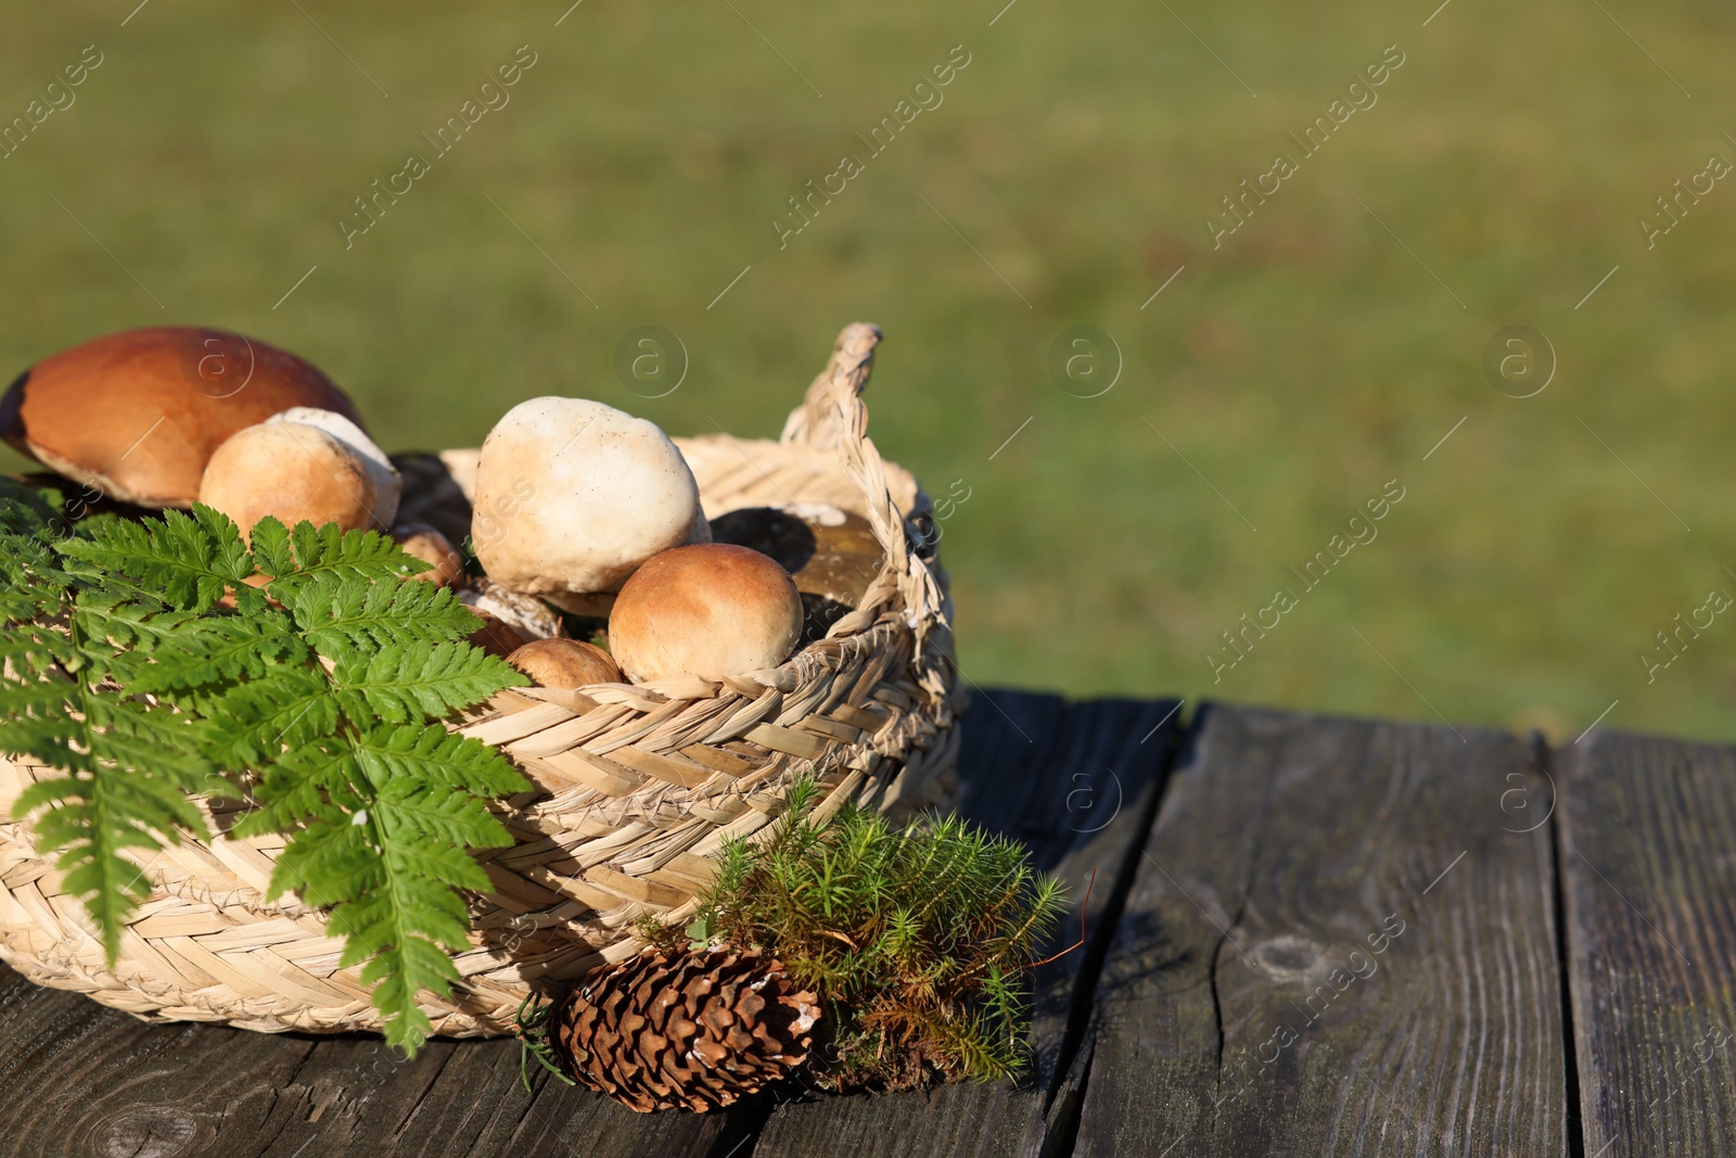
[[1460,731],[1203,712],[1073,1153],[1568,1153],[1550,832],[1512,832],[1549,790],[1517,740]]

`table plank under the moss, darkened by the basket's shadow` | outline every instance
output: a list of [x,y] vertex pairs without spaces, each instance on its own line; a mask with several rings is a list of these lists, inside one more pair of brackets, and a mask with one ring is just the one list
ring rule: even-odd
[[[781,1101],[753,1148],[755,1158],[823,1155],[1040,1155],[1071,1132],[1075,1054],[1090,991],[1115,927],[1118,878],[1154,811],[1174,727],[1174,701],[1090,701],[979,693],[965,720],[962,813],[1024,840],[1038,866],[1069,882],[1075,911],[1047,951],[1090,932],[1083,950],[1036,970],[1033,1043],[1023,1083],[951,1085],[930,1094]],[[1085,906],[1092,870],[1097,882]],[[1080,977],[1085,984],[1080,984]]]

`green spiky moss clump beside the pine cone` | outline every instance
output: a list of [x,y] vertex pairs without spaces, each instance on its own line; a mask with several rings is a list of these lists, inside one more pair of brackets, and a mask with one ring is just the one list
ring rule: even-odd
[[825,823],[799,780],[785,816],[724,847],[700,915],[648,924],[665,950],[760,948],[826,1003],[835,1089],[991,1082],[1024,1059],[1028,965],[1061,917],[1061,882],[1024,845],[958,818],[892,828],[847,804]]

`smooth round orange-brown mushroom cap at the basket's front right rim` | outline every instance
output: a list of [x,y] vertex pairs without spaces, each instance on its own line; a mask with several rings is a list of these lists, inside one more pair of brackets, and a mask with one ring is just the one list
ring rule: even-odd
[[734,543],[675,547],[621,585],[609,649],[634,682],[778,667],[802,637],[802,599],[778,563]]

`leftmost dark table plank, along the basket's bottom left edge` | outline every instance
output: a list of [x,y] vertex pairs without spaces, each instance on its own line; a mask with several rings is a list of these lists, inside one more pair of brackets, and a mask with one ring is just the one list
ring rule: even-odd
[[7,1158],[684,1155],[726,1116],[635,1115],[587,1090],[519,1085],[514,1042],[156,1026],[0,969]]

